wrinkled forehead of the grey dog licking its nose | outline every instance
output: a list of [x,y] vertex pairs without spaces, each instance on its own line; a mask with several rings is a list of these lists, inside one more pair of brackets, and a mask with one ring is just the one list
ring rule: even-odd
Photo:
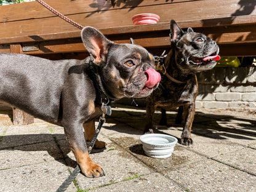
[[153,63],[154,58],[142,46],[136,44],[114,44],[108,52],[108,59],[115,57],[115,60],[121,62],[122,60],[135,59],[140,62]]

